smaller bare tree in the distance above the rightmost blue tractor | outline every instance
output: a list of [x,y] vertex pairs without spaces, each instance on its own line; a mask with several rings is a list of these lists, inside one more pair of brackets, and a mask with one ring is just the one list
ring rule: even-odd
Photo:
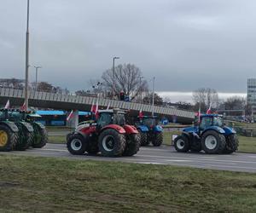
[[195,107],[201,105],[201,110],[207,111],[207,108],[212,106],[212,108],[218,108],[218,92],[215,89],[201,88],[196,89],[193,92],[193,101],[195,102]]

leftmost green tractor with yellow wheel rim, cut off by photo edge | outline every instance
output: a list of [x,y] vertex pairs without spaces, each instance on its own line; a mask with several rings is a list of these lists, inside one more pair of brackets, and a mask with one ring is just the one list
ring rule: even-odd
[[7,119],[7,111],[0,110],[0,152],[9,152],[15,149],[18,132],[19,129],[15,123]]

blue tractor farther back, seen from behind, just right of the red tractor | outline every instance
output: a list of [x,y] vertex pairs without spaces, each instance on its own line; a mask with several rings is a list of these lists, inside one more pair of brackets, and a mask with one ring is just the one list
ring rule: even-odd
[[141,146],[148,146],[152,142],[154,147],[159,147],[163,142],[163,128],[158,125],[156,116],[143,116],[139,118],[137,130],[141,135]]

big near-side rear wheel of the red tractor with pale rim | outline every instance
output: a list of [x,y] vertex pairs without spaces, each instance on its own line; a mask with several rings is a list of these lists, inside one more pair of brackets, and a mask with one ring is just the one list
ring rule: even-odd
[[99,150],[105,157],[119,157],[125,151],[125,135],[116,130],[102,131],[98,140]]

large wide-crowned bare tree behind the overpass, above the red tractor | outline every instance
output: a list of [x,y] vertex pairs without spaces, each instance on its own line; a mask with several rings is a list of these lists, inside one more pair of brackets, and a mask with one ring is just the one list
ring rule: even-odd
[[131,64],[119,65],[112,69],[108,69],[102,74],[104,88],[108,93],[118,96],[122,91],[125,95],[129,95],[130,100],[134,100],[138,95],[148,91],[148,83],[142,78],[140,69]]

